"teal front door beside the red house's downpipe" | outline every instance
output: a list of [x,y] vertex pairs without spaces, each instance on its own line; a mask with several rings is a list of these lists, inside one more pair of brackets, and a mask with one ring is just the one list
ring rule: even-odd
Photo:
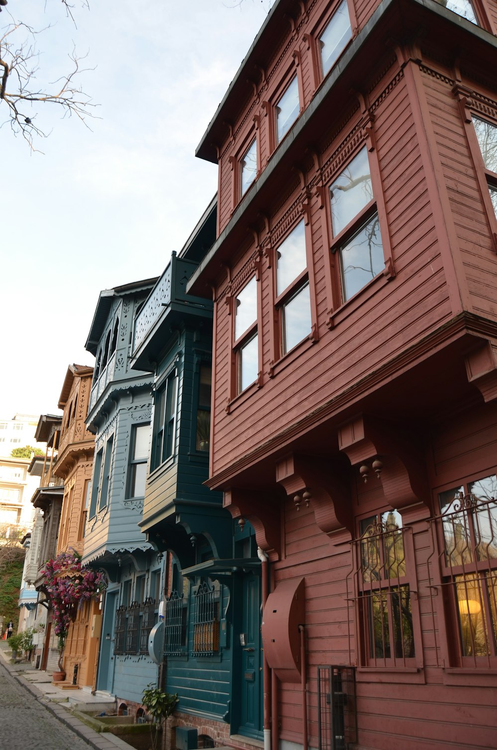
[[263,736],[261,579],[248,574],[242,583],[243,610],[241,646],[241,690],[239,734],[255,739]]

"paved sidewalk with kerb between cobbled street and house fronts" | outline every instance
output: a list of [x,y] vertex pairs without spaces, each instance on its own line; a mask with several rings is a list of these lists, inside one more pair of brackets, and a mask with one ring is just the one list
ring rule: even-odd
[[0,659],[8,672],[14,676],[26,690],[77,735],[82,737],[95,750],[134,750],[128,742],[110,732],[95,732],[80,720],[74,711],[113,712],[116,703],[110,696],[92,695],[85,690],[67,690],[52,684],[52,676],[47,672],[33,669],[27,662],[11,663],[11,649],[8,640],[0,640]]

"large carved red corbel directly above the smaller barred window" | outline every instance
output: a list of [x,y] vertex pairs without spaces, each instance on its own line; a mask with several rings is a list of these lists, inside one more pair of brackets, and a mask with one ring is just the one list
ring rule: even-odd
[[385,499],[392,508],[415,520],[431,511],[429,482],[423,453],[405,425],[396,425],[357,416],[339,428],[339,449],[352,466],[361,466],[367,476],[369,466],[381,477]]

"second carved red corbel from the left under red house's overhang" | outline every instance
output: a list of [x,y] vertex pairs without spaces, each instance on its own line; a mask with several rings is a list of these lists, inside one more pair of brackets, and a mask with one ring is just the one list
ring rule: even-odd
[[276,481],[297,509],[301,502],[312,508],[318,527],[333,544],[351,540],[354,519],[345,462],[291,454],[276,463]]

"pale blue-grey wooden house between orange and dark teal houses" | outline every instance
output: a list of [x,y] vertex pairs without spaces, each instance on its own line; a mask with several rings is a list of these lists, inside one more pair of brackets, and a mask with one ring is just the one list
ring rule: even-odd
[[109,585],[102,613],[96,687],[118,705],[140,704],[155,682],[149,632],[158,621],[161,557],[146,540],[142,520],[152,416],[152,377],[131,370],[134,320],[155,279],[101,292],[86,350],[95,371],[86,425],[95,434],[87,497],[83,564],[103,568]]

